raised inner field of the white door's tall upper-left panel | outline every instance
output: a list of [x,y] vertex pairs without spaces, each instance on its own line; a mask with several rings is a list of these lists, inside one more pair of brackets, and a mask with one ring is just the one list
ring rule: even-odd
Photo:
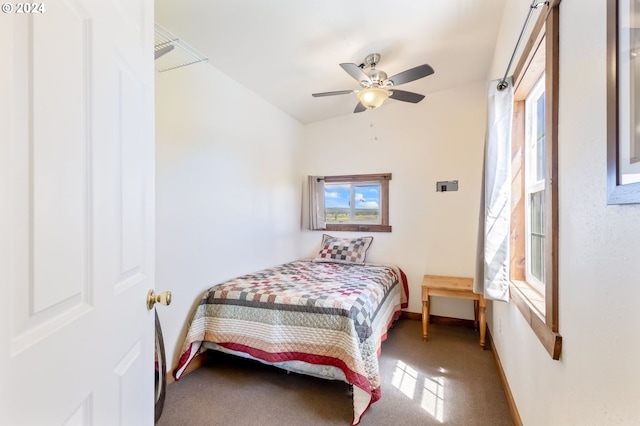
[[[67,31],[52,39],[60,24],[33,19],[29,46],[32,313],[71,298],[78,303],[88,279],[89,24],[71,3],[57,12]],[[61,98],[65,108],[55,102]]]

